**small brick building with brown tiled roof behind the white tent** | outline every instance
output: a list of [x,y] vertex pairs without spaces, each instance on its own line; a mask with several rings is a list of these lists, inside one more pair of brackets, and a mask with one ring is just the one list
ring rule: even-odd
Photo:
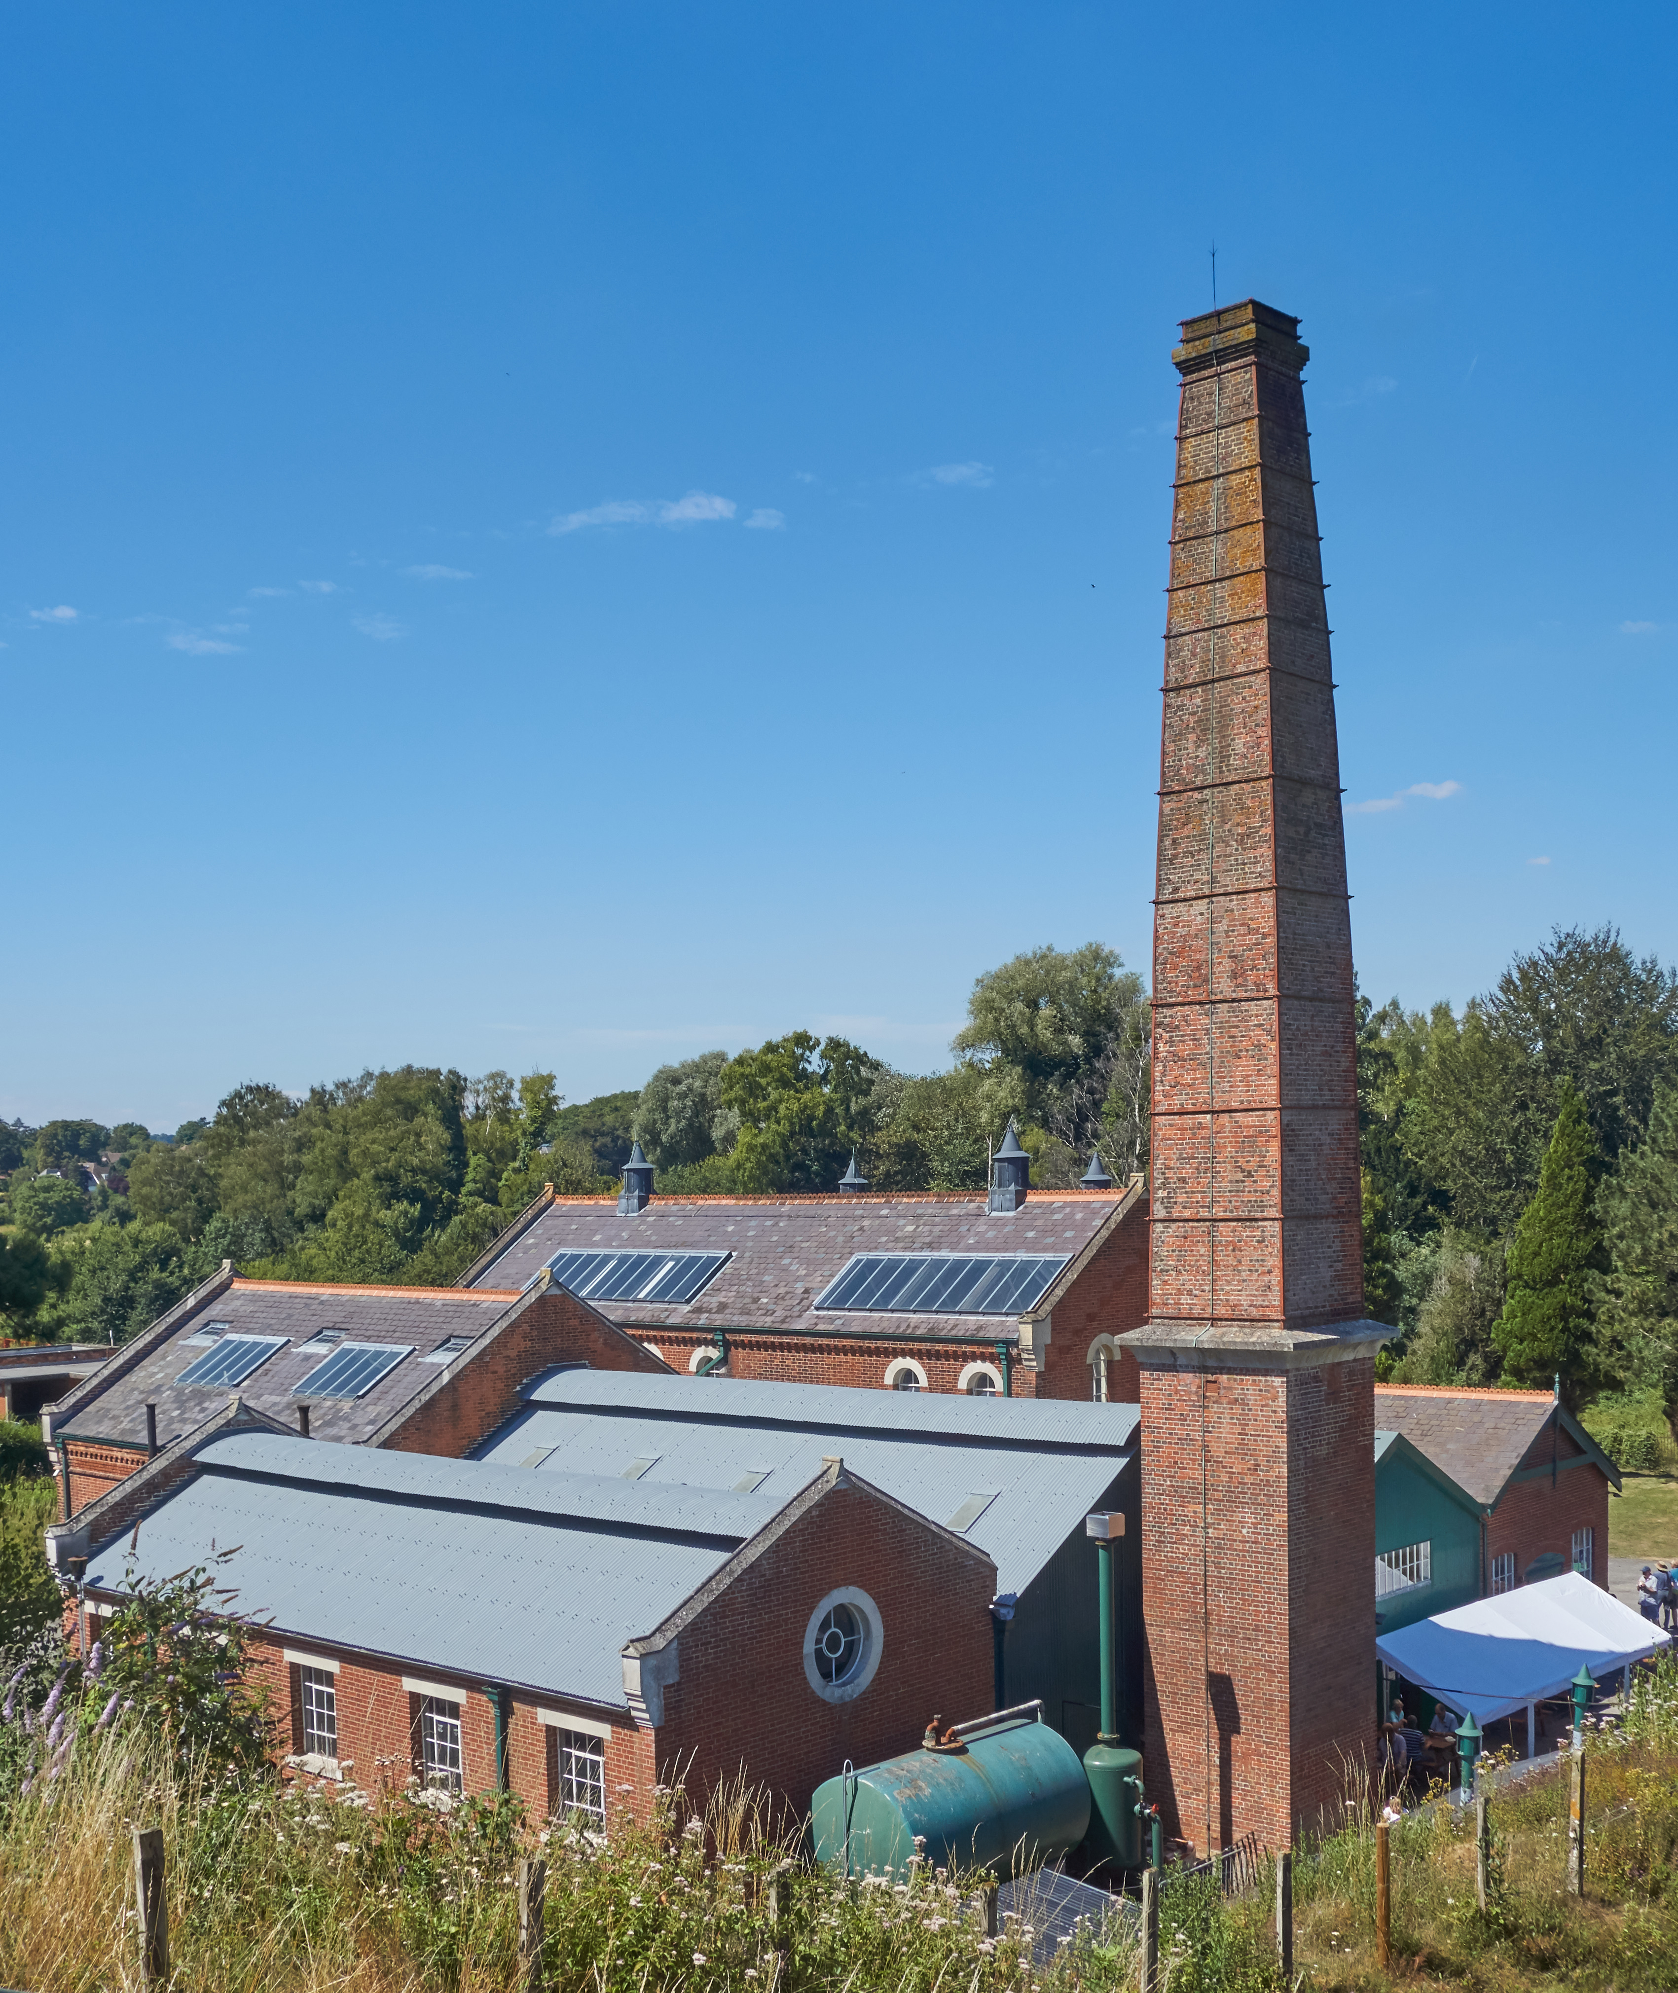
[[1562,1570],[1608,1588],[1608,1491],[1620,1475],[1548,1391],[1383,1383],[1375,1423],[1401,1433],[1479,1509],[1479,1596]]

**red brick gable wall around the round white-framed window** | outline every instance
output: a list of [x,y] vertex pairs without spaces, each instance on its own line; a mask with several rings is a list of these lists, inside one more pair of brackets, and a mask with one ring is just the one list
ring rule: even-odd
[[[885,1642],[855,1702],[825,1702],[803,1670],[817,1602],[855,1584],[879,1606]],[[678,1634],[680,1678],[664,1690],[662,1768],[692,1754],[690,1792],[741,1766],[795,1816],[849,1758],[913,1750],[935,1712],[990,1710],[988,1559],[857,1487],[835,1487]]]

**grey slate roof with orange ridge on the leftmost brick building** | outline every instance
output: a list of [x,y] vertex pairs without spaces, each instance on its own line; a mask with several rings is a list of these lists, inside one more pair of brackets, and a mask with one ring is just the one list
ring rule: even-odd
[[[301,1355],[299,1345],[317,1329],[335,1327],[349,1341],[413,1347],[413,1355],[387,1371],[365,1397],[307,1399],[315,1439],[363,1441],[442,1375],[440,1365],[422,1361],[438,1343],[450,1335],[482,1335],[514,1299],[488,1287],[466,1293],[458,1287],[213,1280],[62,1397],[52,1413],[52,1437],[143,1447],[145,1407],[155,1405],[157,1445],[165,1447],[201,1425],[235,1389],[249,1405],[295,1425],[303,1399],[293,1395],[293,1385],[323,1361],[319,1353]],[[287,1347],[237,1385],[183,1385],[181,1373],[205,1355],[205,1347],[187,1345],[187,1337],[207,1321],[225,1321],[235,1335],[283,1335]],[[454,1361],[466,1357],[470,1349]]]

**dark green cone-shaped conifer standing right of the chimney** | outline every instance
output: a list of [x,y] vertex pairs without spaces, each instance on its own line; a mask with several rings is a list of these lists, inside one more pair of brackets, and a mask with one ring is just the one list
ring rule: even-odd
[[1590,1309],[1606,1256],[1596,1220],[1596,1142],[1568,1082],[1560,1100],[1538,1192],[1515,1226],[1495,1333],[1511,1383],[1544,1385],[1560,1373],[1562,1393],[1576,1401],[1592,1367]]

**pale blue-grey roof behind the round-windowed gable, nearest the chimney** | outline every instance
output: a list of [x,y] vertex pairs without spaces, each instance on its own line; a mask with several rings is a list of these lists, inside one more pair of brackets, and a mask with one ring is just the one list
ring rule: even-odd
[[996,1565],[998,1588],[1022,1592],[1132,1461],[1136,1405],[1066,1399],[855,1391],[566,1369],[528,1385],[526,1411],[478,1457],[550,1473],[624,1475],[634,1487],[733,1489],[785,1501],[833,1455],[873,1487],[947,1529],[971,1499],[982,1513],[959,1531]]

